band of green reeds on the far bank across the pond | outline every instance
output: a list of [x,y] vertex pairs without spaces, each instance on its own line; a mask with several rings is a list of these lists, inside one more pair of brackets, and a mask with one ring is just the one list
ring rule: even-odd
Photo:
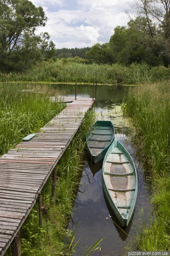
[[0,74],[0,81],[50,81],[83,82],[98,81],[103,84],[140,84],[169,79],[170,68],[150,67],[147,64],[98,65],[57,59],[42,62],[25,73]]

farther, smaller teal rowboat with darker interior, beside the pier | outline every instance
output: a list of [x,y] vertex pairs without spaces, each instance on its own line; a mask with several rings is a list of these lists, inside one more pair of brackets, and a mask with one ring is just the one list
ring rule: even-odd
[[104,158],[115,139],[115,128],[111,121],[96,121],[86,134],[86,153],[92,162]]

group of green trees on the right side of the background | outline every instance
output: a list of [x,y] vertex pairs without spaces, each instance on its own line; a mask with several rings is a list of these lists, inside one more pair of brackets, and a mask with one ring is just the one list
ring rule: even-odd
[[[138,0],[127,26],[117,26],[108,43],[95,44],[86,57],[99,64],[170,64],[170,0]],[[135,18],[134,18],[135,17]]]

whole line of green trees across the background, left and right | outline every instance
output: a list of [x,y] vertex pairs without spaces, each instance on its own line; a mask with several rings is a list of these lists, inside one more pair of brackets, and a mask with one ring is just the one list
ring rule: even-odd
[[[0,71],[22,72],[38,62],[80,57],[85,63],[170,63],[170,0],[137,0],[127,26],[117,26],[109,42],[91,48],[56,49],[49,34],[36,35],[47,17],[29,0],[0,1]],[[80,62],[80,60],[79,60]]]

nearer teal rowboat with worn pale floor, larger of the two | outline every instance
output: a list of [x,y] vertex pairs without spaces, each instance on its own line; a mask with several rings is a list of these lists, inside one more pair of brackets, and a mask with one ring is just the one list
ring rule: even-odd
[[117,219],[122,227],[127,227],[137,198],[137,174],[130,154],[117,139],[104,158],[102,184]]

